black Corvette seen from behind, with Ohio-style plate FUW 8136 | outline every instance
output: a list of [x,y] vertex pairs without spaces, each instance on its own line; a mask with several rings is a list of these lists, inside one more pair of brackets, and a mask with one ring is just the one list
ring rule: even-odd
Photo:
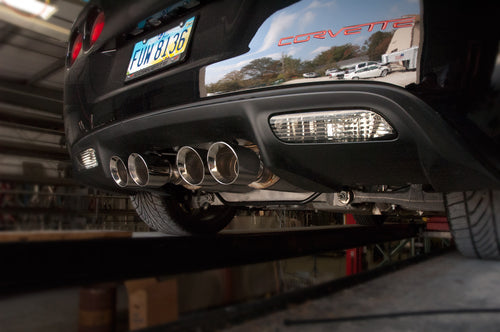
[[91,1],[67,60],[77,178],[164,232],[215,232],[237,207],[447,211],[465,254],[498,258],[498,5],[463,6]]

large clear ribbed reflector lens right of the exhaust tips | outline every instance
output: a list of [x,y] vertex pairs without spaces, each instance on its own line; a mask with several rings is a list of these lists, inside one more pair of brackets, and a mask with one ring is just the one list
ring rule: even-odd
[[396,136],[383,117],[368,110],[282,114],[269,122],[274,134],[289,143],[364,142]]

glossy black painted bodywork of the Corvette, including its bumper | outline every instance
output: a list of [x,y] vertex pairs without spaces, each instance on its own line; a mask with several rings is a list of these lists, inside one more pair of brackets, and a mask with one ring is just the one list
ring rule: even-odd
[[[267,167],[303,190],[407,183],[439,191],[500,188],[496,3],[479,1],[469,8],[424,1],[420,83],[407,91],[346,82],[202,99],[200,69],[247,51],[260,24],[293,1],[202,1],[186,14],[200,18],[187,60],[124,83],[136,42],[127,33],[168,5],[157,2],[93,2],[109,13],[106,28],[94,49],[68,70],[65,92],[73,155],[93,146],[101,161],[100,168],[78,173],[84,182],[116,190],[107,169],[112,154],[125,158],[131,152],[243,138],[257,143]],[[82,26],[82,18],[75,27]],[[292,145],[279,142],[268,125],[273,114],[343,107],[375,109],[394,124],[397,139]]]

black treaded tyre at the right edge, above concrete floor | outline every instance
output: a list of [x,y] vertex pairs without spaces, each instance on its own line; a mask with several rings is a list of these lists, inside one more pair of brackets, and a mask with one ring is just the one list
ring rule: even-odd
[[447,194],[446,210],[453,238],[464,256],[500,259],[500,191]]

